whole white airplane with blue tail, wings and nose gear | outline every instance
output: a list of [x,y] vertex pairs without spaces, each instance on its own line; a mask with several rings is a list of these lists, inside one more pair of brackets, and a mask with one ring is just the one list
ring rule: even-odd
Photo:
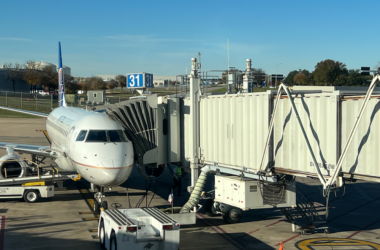
[[[7,149],[8,153],[0,158],[0,169],[7,164],[16,165],[19,169],[16,172],[23,177],[26,164],[14,152],[52,158],[59,169],[75,171],[91,183],[92,189],[97,190],[94,212],[99,212],[100,207],[106,209],[108,206],[106,201],[102,202],[104,188],[118,186],[130,176],[134,162],[133,145],[123,127],[106,114],[67,106],[60,42],[58,54],[57,108],[44,114],[0,106],[0,109],[47,118],[46,130],[51,146],[0,142],[0,148]],[[0,174],[1,178],[4,176]]]

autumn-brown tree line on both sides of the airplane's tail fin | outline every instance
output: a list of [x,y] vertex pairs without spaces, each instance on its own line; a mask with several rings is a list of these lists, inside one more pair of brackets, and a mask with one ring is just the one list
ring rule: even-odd
[[[24,80],[30,85],[30,92],[36,92],[37,86],[45,90],[56,91],[58,89],[58,74],[55,66],[42,66],[34,60],[27,60],[24,64],[5,63],[5,79],[12,82],[13,91],[15,92],[16,82]],[[71,75],[64,75],[65,91],[67,94],[76,94],[78,90],[105,90],[115,87],[123,88],[126,86],[126,76],[117,75],[106,83],[100,77],[74,78]]]

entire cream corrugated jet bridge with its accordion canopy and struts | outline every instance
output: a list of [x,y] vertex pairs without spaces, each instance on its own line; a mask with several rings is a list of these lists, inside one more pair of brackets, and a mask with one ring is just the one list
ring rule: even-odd
[[[192,59],[189,78],[186,96],[141,97],[106,111],[126,129],[139,164],[191,170],[185,210],[199,202],[208,173],[264,182],[319,178],[325,196],[344,179],[380,182],[379,76],[369,88],[281,84],[278,91],[211,95],[201,92]],[[199,175],[205,166],[211,170]]]

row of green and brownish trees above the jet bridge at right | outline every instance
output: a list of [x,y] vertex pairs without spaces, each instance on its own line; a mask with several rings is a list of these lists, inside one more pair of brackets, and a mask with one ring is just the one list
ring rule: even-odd
[[346,64],[327,59],[318,62],[313,72],[306,69],[291,71],[284,82],[290,86],[368,86],[371,79],[372,76],[361,75],[358,69],[347,69]]

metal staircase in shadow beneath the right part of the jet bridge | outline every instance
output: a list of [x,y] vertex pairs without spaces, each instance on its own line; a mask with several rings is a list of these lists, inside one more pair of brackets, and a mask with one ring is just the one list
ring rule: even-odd
[[324,229],[325,233],[328,233],[327,227],[318,227],[318,225],[326,224],[326,220],[323,219],[324,216],[317,212],[314,204],[306,198],[298,187],[296,190],[296,206],[281,208],[281,212],[292,223],[292,231],[296,232],[297,229],[300,229],[301,233],[305,234],[305,230],[313,232],[315,229]]

